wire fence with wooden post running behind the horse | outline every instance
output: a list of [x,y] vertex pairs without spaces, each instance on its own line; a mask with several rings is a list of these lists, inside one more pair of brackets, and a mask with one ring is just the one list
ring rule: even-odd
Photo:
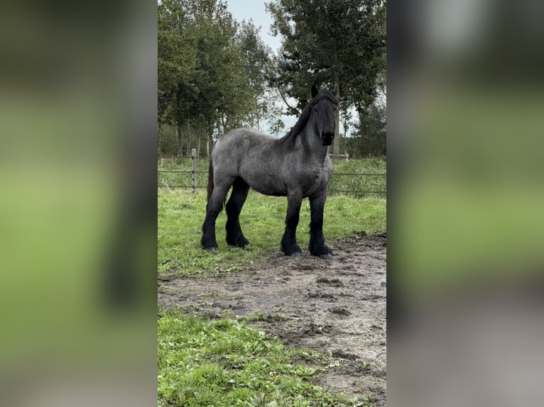
[[[208,157],[163,157],[158,160],[157,185],[166,189],[198,189],[207,186]],[[331,194],[385,197],[386,157],[334,160],[335,171],[329,184]],[[200,180],[200,182],[198,182]]]

